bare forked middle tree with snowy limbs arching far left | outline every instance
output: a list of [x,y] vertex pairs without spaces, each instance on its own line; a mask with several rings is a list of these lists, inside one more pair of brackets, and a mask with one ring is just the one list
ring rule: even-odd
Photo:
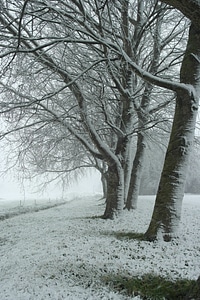
[[[85,1],[84,5],[55,1],[53,6],[44,1],[38,10],[37,1],[5,2],[0,18],[5,31],[1,57],[11,60],[5,62],[1,86],[2,91],[7,90],[6,97],[15,101],[4,101],[2,112],[13,112],[16,129],[28,127],[38,132],[40,126],[56,124],[74,135],[96,159],[105,161],[105,217],[112,217],[124,205],[124,181],[128,181],[126,174],[131,166],[127,154],[132,134],[138,129],[134,110],[143,89],[142,81],[123,59],[123,52],[137,55],[137,59],[138,53],[145,53],[140,63],[146,60],[147,68],[151,55],[151,48],[146,53],[143,39],[147,35],[140,28],[139,13],[134,20],[136,4],[107,3],[102,10],[96,1]],[[152,29],[157,12],[144,3]],[[134,38],[133,49],[130,41]],[[11,69],[14,61],[18,65]]]

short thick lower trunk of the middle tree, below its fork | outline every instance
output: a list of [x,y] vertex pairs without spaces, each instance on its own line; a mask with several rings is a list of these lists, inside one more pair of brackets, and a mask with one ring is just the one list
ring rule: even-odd
[[120,214],[124,205],[124,173],[122,167],[108,166],[107,171],[107,198],[103,217],[113,219]]

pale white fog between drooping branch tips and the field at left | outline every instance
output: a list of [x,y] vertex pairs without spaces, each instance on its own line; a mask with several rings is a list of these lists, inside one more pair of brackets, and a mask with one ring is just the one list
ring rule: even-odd
[[[38,185],[44,179],[19,181],[16,174],[4,174],[0,177],[0,201],[1,200],[30,200],[30,199],[67,199],[79,195],[91,195],[101,193],[100,174],[97,171],[90,171],[81,179],[66,184],[53,182],[44,190],[39,190]],[[37,185],[38,184],[38,185]]]

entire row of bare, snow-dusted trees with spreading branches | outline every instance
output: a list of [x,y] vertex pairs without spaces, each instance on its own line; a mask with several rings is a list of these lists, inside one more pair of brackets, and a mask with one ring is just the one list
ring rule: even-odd
[[31,171],[97,168],[104,217],[113,218],[136,208],[147,144],[165,143],[171,130],[146,232],[149,240],[160,232],[170,240],[180,220],[200,93],[198,1],[0,4],[1,135],[15,142]]

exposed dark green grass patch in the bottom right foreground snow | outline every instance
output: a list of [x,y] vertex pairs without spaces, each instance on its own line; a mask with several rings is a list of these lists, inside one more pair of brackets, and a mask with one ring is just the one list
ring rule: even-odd
[[[147,274],[141,278],[107,277],[104,279],[119,292],[128,295],[140,295],[142,299],[149,300],[199,300],[199,287],[195,280],[171,281],[161,276]],[[187,298],[185,298],[187,296]]]

